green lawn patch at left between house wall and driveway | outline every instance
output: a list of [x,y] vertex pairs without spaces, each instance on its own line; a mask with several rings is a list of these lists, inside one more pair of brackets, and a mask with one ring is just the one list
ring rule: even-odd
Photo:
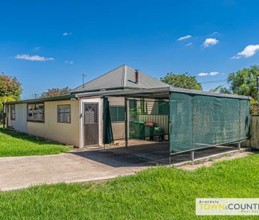
[[69,150],[62,144],[0,127],[0,157],[60,154]]

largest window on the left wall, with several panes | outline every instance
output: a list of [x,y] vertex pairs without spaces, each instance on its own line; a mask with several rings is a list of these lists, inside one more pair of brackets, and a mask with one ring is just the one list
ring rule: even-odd
[[44,103],[27,105],[27,120],[44,122]]

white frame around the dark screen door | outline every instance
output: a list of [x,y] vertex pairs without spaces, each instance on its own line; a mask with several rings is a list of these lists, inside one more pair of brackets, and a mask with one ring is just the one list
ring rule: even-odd
[[98,104],[98,146],[101,145],[103,138],[103,98],[86,98],[81,99],[79,102],[79,115],[80,115],[80,149],[84,149],[84,104],[94,103]]

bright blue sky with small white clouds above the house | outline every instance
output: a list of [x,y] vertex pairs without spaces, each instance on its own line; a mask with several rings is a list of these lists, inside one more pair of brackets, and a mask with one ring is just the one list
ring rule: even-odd
[[82,74],[91,80],[122,64],[157,79],[172,71],[224,80],[259,63],[258,7],[235,0],[1,1],[0,71],[21,81],[23,98],[74,88]]

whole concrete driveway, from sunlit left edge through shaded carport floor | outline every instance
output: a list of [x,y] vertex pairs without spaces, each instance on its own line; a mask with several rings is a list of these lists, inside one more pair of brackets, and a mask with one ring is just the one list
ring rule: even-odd
[[[168,143],[118,147],[107,150],[71,151],[50,156],[0,158],[0,190],[16,190],[42,183],[76,183],[107,180],[134,174],[149,166],[168,165]],[[219,146],[195,153],[195,160],[236,152]],[[190,153],[175,155],[172,163],[190,160]]]

